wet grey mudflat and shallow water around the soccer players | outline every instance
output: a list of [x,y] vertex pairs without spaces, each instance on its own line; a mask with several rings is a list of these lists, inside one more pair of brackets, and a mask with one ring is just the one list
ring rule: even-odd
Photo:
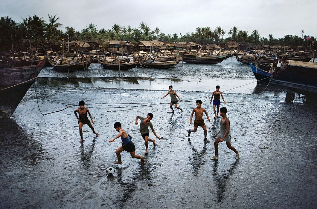
[[[120,76],[99,64],[70,74],[44,68],[35,85],[39,108],[62,111],[42,116],[31,86],[12,117],[0,120],[0,207],[315,208],[317,107],[301,98],[285,103],[287,89],[254,80],[250,67],[234,59],[184,63],[173,72],[135,68]],[[184,100],[178,103],[183,113],[169,113],[170,98],[161,99],[171,84]],[[221,106],[228,108],[238,160],[225,143],[219,160],[209,159],[220,128],[208,101],[215,85],[224,91]],[[200,127],[187,136],[197,98],[211,119],[204,116],[210,143]],[[82,99],[100,136],[84,125],[81,144],[74,110]],[[144,155],[134,122],[148,112],[162,140],[149,144],[144,165],[126,152],[122,165],[113,164],[121,144],[108,143],[117,135],[113,123],[121,122],[135,153]],[[110,165],[113,176],[106,175]]]

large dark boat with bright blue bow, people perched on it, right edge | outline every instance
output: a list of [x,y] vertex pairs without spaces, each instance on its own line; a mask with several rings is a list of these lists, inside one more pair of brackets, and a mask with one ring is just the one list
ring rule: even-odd
[[[306,95],[306,101],[317,100],[317,63],[300,62],[288,60],[286,70],[281,71],[280,74],[270,77],[268,69],[261,69],[249,63],[252,72],[257,80],[276,85],[284,86],[288,89]],[[261,66],[260,66],[261,67]]]

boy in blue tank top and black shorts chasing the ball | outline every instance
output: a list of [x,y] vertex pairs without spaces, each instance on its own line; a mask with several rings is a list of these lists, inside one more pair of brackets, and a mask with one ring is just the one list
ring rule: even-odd
[[140,155],[136,155],[135,154],[135,147],[133,142],[131,141],[132,136],[130,134],[128,134],[122,127],[120,122],[115,122],[113,125],[114,129],[116,131],[119,132],[119,134],[114,137],[113,139],[109,140],[109,143],[113,142],[116,138],[121,137],[121,141],[122,141],[122,146],[120,146],[117,150],[116,150],[116,155],[118,157],[118,161],[113,162],[115,164],[122,164],[121,162],[121,155],[120,153],[123,152],[123,150],[130,152],[130,155],[132,158],[138,158],[141,160],[140,164],[144,163],[144,156],[140,156]]

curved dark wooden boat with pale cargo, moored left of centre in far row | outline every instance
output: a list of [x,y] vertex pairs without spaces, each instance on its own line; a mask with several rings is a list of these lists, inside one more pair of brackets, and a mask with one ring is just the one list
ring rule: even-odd
[[[130,60],[130,59],[128,59]],[[126,60],[126,61],[128,61]],[[99,59],[99,63],[106,69],[110,70],[130,70],[135,68],[139,61],[133,61],[133,62],[124,62],[122,60],[113,58],[113,59]]]

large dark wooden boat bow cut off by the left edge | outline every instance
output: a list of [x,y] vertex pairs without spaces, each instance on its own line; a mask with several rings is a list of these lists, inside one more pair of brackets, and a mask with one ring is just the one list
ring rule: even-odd
[[38,65],[0,69],[0,118],[9,118],[41,72],[46,59]]

